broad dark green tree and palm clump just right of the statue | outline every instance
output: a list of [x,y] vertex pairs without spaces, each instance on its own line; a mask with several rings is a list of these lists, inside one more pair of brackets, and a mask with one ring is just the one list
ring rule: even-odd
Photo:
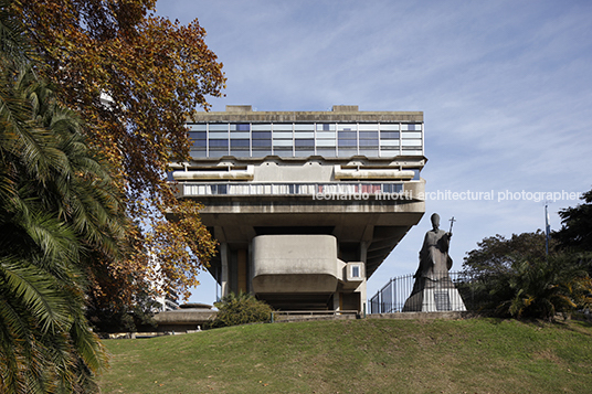
[[577,256],[547,256],[545,234],[488,237],[467,253],[463,268],[472,278],[464,284],[477,308],[500,316],[552,320],[556,313],[588,308],[592,280]]

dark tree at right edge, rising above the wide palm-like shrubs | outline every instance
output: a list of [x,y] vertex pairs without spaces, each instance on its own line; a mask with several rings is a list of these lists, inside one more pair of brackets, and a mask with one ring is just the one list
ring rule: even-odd
[[551,233],[558,247],[573,252],[592,252],[592,190],[583,193],[584,203],[559,211],[561,230]]

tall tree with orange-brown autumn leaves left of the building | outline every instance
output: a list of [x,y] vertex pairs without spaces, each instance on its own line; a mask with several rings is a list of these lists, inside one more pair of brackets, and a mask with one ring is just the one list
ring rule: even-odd
[[[154,14],[152,0],[17,0],[39,60],[36,72],[86,123],[89,143],[116,169],[129,219],[125,258],[97,252],[94,297],[116,307],[134,284],[158,279],[188,295],[215,249],[200,206],[180,202],[167,166],[188,159],[184,119],[220,96],[222,64],[193,21]],[[165,213],[180,220],[168,222]],[[155,266],[154,260],[159,265]]]

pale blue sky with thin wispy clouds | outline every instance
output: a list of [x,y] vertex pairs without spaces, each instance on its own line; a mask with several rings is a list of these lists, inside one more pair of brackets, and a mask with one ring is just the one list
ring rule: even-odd
[[[457,220],[459,269],[486,236],[543,228],[545,201],[526,193],[592,188],[590,1],[160,0],[157,12],[207,30],[228,77],[213,110],[422,110],[426,191],[493,193],[429,200],[369,280],[369,298],[415,271],[433,212],[445,228]],[[499,201],[508,193],[520,199]],[[551,201],[551,227],[578,203]],[[191,301],[212,304],[213,279],[200,280]]]

